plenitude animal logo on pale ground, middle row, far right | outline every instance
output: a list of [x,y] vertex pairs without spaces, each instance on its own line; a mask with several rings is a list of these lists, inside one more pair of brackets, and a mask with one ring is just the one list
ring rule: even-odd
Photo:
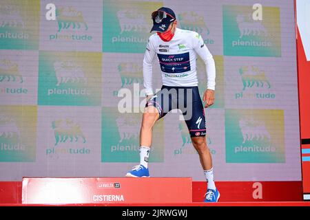
[[255,99],[274,99],[276,94],[271,92],[271,83],[263,69],[254,65],[242,66],[238,70],[242,89],[235,94],[236,99],[255,98]]

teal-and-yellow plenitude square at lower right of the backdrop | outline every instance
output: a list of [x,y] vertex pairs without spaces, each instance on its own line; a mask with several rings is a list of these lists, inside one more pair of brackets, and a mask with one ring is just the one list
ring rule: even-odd
[[282,110],[227,109],[225,117],[227,162],[285,162]]

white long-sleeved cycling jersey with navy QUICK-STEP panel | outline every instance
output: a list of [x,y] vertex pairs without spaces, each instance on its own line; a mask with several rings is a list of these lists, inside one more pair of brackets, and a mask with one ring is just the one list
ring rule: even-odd
[[207,89],[215,89],[216,68],[213,56],[197,32],[176,28],[171,41],[161,40],[158,34],[149,36],[143,59],[145,94],[152,95],[152,66],[157,54],[163,85],[172,87],[198,86],[197,54],[205,62]]

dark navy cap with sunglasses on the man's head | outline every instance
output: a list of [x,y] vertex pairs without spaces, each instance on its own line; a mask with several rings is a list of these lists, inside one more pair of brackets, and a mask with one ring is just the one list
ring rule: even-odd
[[152,20],[153,28],[151,32],[165,32],[169,28],[170,23],[176,21],[176,14],[174,14],[172,9],[162,7],[152,13]]

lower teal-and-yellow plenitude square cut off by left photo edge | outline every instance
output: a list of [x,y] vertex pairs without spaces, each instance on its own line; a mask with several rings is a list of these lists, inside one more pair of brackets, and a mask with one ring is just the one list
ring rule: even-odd
[[0,107],[0,162],[34,162],[37,107]]

